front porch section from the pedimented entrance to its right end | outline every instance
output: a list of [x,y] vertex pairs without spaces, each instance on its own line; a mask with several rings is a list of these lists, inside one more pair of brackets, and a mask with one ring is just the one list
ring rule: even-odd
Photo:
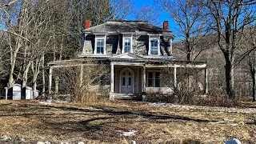
[[202,71],[204,82],[198,83],[201,90],[207,94],[207,66],[204,62],[112,59],[110,99],[136,98],[150,93],[171,95],[181,82]]

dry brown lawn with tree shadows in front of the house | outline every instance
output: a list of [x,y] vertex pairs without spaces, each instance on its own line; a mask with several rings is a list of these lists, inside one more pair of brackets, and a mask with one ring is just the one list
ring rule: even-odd
[[[0,101],[0,136],[24,138],[24,143],[223,143],[230,138],[255,143],[256,125],[250,114],[254,111],[133,102],[46,105]],[[129,130],[137,132],[134,136],[122,135]]]

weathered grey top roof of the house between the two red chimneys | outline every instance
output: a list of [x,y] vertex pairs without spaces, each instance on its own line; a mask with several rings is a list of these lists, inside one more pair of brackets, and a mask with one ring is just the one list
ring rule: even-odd
[[108,21],[83,30],[89,34],[163,34],[174,38],[170,30],[164,30],[146,21]]

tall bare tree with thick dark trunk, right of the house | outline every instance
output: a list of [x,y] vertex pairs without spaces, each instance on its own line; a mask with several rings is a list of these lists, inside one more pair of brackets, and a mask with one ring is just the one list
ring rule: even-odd
[[243,30],[250,23],[255,22],[256,11],[254,1],[202,1],[207,7],[213,21],[210,25],[217,32],[218,47],[226,60],[226,92],[230,98],[234,96],[234,66],[238,58],[238,49]]

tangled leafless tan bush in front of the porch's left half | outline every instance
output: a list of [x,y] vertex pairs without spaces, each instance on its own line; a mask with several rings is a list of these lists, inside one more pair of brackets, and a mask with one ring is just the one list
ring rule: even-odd
[[[103,90],[109,92],[110,67],[98,64],[98,61],[88,60],[86,64],[74,66],[77,62],[66,63],[66,66],[56,68],[55,74],[59,77],[61,94],[70,94],[75,102],[94,102]],[[58,86],[57,86],[58,87]]]

